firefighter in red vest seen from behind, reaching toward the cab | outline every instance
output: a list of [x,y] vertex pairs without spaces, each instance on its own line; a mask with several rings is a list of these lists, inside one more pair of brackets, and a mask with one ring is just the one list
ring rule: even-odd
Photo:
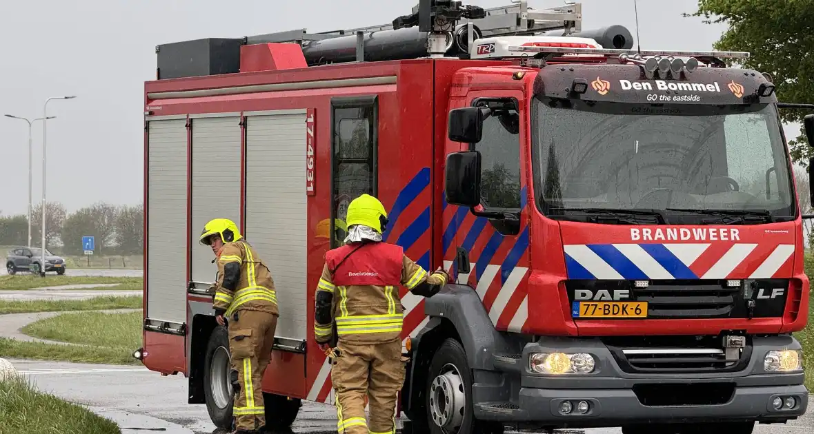
[[[428,275],[398,245],[382,241],[387,212],[378,199],[362,194],[348,206],[345,245],[326,254],[317,287],[314,335],[324,350],[333,340],[331,382],[340,433],[395,434],[396,396],[405,380],[401,360],[404,319],[399,285],[432,297],[449,276]],[[365,398],[370,423],[365,420]]]

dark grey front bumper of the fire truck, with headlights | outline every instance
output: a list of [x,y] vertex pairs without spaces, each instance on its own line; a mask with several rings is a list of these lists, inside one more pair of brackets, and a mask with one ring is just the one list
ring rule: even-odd
[[[517,401],[510,406],[476,405],[479,419],[534,423],[549,427],[613,427],[631,423],[704,423],[757,421],[783,423],[805,413],[808,392],[803,372],[764,371],[772,349],[799,349],[791,336],[755,336],[751,358],[742,371],[696,374],[632,374],[623,371],[598,339],[544,337],[527,344],[520,359]],[[588,375],[540,375],[528,368],[532,353],[589,353],[596,359]],[[473,387],[475,402],[489,399],[486,388]],[[794,397],[788,410],[775,410],[775,397]],[[563,401],[573,410],[562,414]],[[577,404],[589,410],[580,414]],[[509,407],[509,408],[507,408]]]

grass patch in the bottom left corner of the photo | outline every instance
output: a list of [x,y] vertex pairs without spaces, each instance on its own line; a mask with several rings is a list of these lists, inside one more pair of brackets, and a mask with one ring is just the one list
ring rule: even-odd
[[19,377],[0,381],[0,430],[15,434],[120,434],[111,420]]

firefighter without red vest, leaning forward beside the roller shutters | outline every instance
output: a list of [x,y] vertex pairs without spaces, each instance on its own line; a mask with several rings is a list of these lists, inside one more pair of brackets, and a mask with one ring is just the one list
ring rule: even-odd
[[230,219],[213,219],[200,242],[217,258],[214,302],[217,323],[227,325],[231,354],[230,381],[237,391],[235,433],[261,432],[265,426],[263,380],[271,360],[278,307],[269,268]]

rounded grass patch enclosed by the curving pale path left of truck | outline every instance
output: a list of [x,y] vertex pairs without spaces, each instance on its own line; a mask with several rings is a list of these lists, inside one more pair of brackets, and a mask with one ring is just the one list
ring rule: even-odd
[[50,341],[124,349],[124,354],[129,356],[133,349],[142,344],[141,325],[142,312],[86,312],[40,319],[20,329],[20,332]]

